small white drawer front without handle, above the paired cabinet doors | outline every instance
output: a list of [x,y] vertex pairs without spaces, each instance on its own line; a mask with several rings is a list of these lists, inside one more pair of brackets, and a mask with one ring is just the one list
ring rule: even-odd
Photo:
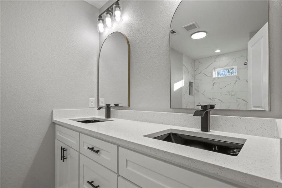
[[79,151],[79,133],[56,124],[56,139]]

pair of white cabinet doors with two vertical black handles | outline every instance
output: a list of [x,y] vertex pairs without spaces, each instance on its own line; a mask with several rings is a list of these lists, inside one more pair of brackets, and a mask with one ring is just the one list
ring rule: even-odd
[[55,140],[56,188],[76,188],[79,180],[79,153],[66,144]]

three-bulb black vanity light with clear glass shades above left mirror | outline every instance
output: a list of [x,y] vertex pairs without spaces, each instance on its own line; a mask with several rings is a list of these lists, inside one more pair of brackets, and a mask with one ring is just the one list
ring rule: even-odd
[[121,6],[118,3],[120,0],[115,1],[110,7],[103,11],[97,19],[97,30],[99,33],[105,32],[105,27],[113,27],[114,20],[115,22],[121,22]]

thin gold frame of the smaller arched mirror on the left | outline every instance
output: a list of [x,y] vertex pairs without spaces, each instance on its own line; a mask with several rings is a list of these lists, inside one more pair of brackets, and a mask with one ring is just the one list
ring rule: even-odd
[[[127,79],[128,79],[128,82],[127,82],[127,106],[119,106],[119,107],[130,107],[130,45],[129,45],[129,40],[128,40],[128,38],[126,37],[126,35],[125,34],[123,34],[123,33],[121,33],[121,32],[119,32],[119,31],[115,31],[115,32],[112,32],[112,33],[110,33],[106,38],[105,38],[105,40],[103,41],[103,44],[105,43],[105,41],[107,40],[107,38],[111,35],[111,34],[113,34],[113,33],[120,33],[120,34],[122,34],[123,36],[124,36],[124,38],[126,39],[126,42],[127,42],[127,49],[128,49],[128,51],[127,51],[127,53],[128,53],[128,59],[127,59],[127,61],[128,61],[128,70],[127,70]],[[100,48],[100,50],[99,50],[99,58],[98,58],[98,84],[97,84],[97,98],[98,98],[98,105],[97,106],[99,106],[99,99],[100,99],[100,96],[99,96],[99,91],[100,91],[100,54],[101,54],[101,50],[102,50],[102,47],[103,47],[103,44],[101,45],[101,48]]]

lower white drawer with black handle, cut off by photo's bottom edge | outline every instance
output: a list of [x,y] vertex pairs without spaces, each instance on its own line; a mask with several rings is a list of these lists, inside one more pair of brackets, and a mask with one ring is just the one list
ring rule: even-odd
[[79,187],[93,188],[88,182],[101,188],[117,188],[117,174],[80,154]]

